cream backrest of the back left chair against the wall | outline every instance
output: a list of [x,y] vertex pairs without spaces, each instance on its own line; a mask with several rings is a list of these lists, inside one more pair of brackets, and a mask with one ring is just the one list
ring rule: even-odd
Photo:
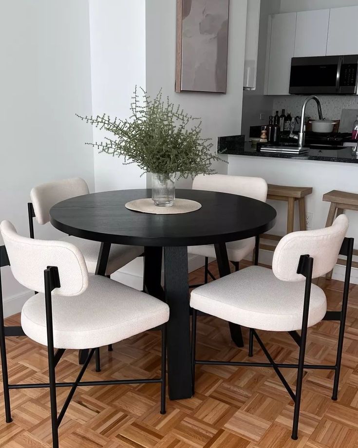
[[34,187],[30,196],[38,224],[46,224],[50,221],[50,209],[53,205],[88,193],[88,185],[80,177],[48,182]]

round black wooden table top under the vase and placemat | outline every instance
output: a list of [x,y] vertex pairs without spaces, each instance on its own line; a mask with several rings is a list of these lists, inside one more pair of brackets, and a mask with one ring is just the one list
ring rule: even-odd
[[243,240],[270,230],[276,210],[236,194],[176,189],[200,210],[180,215],[153,215],[128,210],[134,199],[150,198],[151,189],[106,191],[67,199],[50,210],[58,230],[87,240],[140,246],[188,246]]

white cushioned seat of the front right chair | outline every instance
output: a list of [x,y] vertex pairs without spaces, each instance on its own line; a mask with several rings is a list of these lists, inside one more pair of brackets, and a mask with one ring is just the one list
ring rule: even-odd
[[[250,266],[194,289],[190,306],[258,330],[300,330],[304,287],[304,280],[278,280],[271,269]],[[326,311],[324,292],[312,284],[308,326],[320,322]]]

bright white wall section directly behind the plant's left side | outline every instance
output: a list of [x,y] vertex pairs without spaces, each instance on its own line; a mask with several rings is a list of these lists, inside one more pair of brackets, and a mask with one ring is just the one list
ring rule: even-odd
[[[135,85],[145,89],[145,1],[90,0],[90,27],[93,113],[128,118]],[[94,128],[94,141],[103,136]],[[94,149],[96,191],[143,188],[141,174],[123,158]]]

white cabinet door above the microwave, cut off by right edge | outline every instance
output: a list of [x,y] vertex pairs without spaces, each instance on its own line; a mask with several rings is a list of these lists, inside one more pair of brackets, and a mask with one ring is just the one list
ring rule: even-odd
[[357,20],[358,6],[331,9],[327,56],[358,54]]

